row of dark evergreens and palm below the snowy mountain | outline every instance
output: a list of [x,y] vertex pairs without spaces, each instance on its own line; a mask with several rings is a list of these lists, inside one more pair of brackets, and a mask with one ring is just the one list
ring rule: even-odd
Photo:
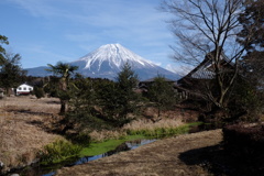
[[57,77],[50,80],[44,89],[61,100],[59,113],[65,116],[62,123],[66,124],[63,131],[76,124],[79,128],[121,128],[136,119],[147,106],[157,107],[160,116],[178,100],[173,84],[162,76],[154,79],[147,92],[138,92],[139,79],[129,64],[123,66],[116,81],[85,78],[79,74],[73,77],[77,67],[68,64],[50,66],[48,70]]

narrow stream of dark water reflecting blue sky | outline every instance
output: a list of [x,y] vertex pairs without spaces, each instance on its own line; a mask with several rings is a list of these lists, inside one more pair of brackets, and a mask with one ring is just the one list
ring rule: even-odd
[[55,164],[53,166],[40,166],[37,164],[32,165],[32,166],[28,166],[21,170],[13,170],[10,172],[9,175],[12,174],[19,174],[20,176],[53,176],[56,174],[56,170],[62,168],[62,167],[72,167],[75,165],[80,165],[80,164],[85,164],[101,157],[107,157],[107,156],[111,156],[113,154],[117,154],[119,152],[124,152],[124,151],[130,151],[130,150],[134,150],[139,146],[152,143],[156,140],[135,140],[135,141],[129,141],[129,142],[124,142],[121,145],[119,145],[116,150],[113,151],[109,151],[107,153],[103,154],[99,154],[99,155],[95,155],[95,156],[85,156],[85,157],[80,157],[80,158],[75,158],[75,160],[70,160],[67,162],[63,162],[59,164]]

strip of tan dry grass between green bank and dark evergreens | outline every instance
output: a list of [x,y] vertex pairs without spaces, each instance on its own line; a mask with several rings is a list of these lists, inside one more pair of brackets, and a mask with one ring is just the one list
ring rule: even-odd
[[199,112],[194,110],[184,110],[175,108],[175,110],[164,111],[158,117],[157,109],[148,107],[144,110],[141,118],[125,124],[120,130],[95,130],[89,133],[91,141],[105,141],[108,139],[120,139],[127,135],[128,131],[152,131],[155,129],[178,128],[186,122],[197,121]]

